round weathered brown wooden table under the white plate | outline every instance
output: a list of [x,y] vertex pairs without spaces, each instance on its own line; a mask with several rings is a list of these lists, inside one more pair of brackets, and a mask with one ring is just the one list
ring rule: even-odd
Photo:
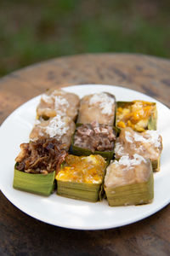
[[[119,84],[170,107],[170,61],[148,55],[75,55],[0,79],[1,123],[47,88],[72,84]],[[111,230],[67,230],[27,216],[0,193],[0,255],[170,255],[169,210]]]

